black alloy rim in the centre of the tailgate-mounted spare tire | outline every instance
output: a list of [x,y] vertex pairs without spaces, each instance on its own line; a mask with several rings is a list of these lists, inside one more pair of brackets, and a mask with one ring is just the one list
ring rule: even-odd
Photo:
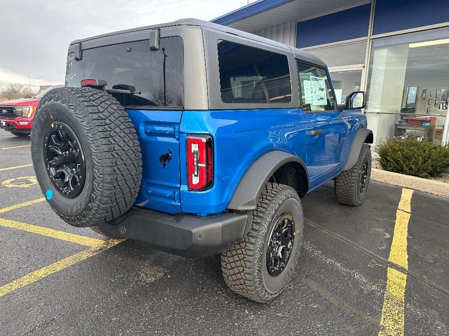
[[75,132],[64,122],[52,122],[45,131],[44,163],[51,183],[67,198],[83,190],[86,166]]

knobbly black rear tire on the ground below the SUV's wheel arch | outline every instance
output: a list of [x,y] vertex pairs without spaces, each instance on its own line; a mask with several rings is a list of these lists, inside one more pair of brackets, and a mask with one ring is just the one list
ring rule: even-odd
[[[292,187],[267,183],[256,209],[248,211],[248,214],[253,216],[249,233],[242,242],[221,253],[221,271],[231,290],[250,300],[267,303],[285,288],[295,270],[304,226],[301,202]],[[277,246],[279,251],[281,245],[272,244],[272,239],[278,229],[283,231],[286,228],[289,219],[285,218],[293,223],[290,231],[292,247],[283,270],[280,274],[273,274],[269,266],[272,259],[268,257],[272,256],[271,249],[267,249]]]

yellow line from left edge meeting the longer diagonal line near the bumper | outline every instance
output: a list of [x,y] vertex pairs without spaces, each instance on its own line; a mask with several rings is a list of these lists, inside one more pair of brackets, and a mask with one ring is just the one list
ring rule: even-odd
[[15,220],[9,219],[0,218],[0,226],[41,234],[43,236],[65,240],[66,242],[76,243],[89,247],[97,247],[104,243],[104,241],[101,239],[84,237],[79,234],[44,228],[38,225],[16,222]]

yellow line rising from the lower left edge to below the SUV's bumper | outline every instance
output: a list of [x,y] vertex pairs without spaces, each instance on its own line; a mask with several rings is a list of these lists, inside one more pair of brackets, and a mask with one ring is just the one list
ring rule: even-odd
[[102,244],[97,245],[96,247],[88,248],[87,250],[81,251],[73,256],[67,257],[63,260],[56,261],[55,263],[43,267],[39,270],[31,272],[27,275],[24,275],[6,285],[0,287],[0,297],[11,293],[14,290],[18,290],[19,288],[25,287],[33,282],[39,281],[40,279],[51,275],[53,273],[59,272],[71,265],[76,264],[77,262],[83,261],[87,258],[95,256],[100,252],[107,250],[108,248],[115,246],[116,244],[122,242],[122,239],[110,239]]

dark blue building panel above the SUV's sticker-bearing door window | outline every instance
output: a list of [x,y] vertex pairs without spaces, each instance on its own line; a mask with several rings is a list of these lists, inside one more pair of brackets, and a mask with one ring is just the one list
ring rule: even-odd
[[305,48],[368,36],[371,4],[298,22],[296,47]]

